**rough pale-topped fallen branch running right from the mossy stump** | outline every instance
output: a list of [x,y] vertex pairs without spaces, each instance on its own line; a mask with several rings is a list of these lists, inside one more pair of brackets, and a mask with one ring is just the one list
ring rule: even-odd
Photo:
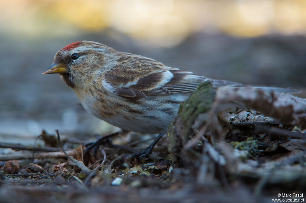
[[254,87],[221,87],[219,103],[241,102],[282,123],[306,128],[306,99],[278,92],[266,93]]

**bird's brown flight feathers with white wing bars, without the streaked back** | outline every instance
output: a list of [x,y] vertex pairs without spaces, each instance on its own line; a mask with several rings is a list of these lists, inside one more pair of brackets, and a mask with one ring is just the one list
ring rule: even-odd
[[206,77],[178,69],[160,69],[153,73],[137,74],[132,78],[119,77],[118,75],[106,73],[105,79],[113,86],[114,93],[129,99],[142,99],[152,95],[191,92],[199,84],[210,80]]

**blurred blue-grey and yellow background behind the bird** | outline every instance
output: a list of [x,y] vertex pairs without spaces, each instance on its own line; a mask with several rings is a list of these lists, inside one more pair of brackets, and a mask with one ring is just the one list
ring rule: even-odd
[[114,130],[58,75],[41,75],[75,41],[305,97],[304,0],[0,0],[0,30],[1,141],[26,143],[42,129],[85,140]]

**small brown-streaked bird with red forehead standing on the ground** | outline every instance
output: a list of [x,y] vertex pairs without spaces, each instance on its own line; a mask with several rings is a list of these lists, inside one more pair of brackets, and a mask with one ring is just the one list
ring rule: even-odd
[[93,116],[123,130],[159,133],[159,139],[177,115],[180,102],[199,84],[238,84],[199,76],[93,41],[77,41],[59,50],[43,74],[48,73],[62,75]]

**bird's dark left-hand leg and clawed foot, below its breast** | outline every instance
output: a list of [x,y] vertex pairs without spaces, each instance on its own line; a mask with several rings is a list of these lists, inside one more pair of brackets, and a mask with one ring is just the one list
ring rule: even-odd
[[99,139],[97,139],[94,142],[89,142],[84,144],[84,146],[86,147],[86,150],[84,151],[84,158],[87,157],[89,151],[92,149],[92,152],[95,156],[97,150],[99,149],[100,145],[102,144],[108,144],[108,145],[112,145],[112,141],[110,139],[110,137],[114,137],[116,135],[122,134],[122,130],[118,130],[114,133],[110,133],[104,136],[101,136]]

